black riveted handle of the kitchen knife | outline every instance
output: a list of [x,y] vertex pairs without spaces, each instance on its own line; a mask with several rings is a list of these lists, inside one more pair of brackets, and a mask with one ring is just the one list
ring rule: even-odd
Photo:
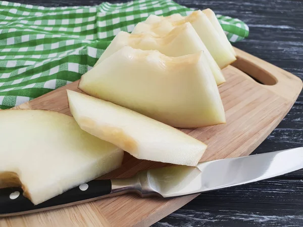
[[43,203],[34,205],[29,199],[22,195],[23,191],[21,188],[2,188],[0,189],[0,217],[73,205],[81,203],[83,200],[89,201],[94,198],[109,195],[111,191],[111,180],[93,180]]

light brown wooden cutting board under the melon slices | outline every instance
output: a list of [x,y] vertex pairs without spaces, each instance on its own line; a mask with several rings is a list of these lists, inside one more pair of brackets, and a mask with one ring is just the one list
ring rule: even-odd
[[[236,49],[236,52],[237,61],[223,70],[227,82],[219,87],[227,123],[182,130],[208,144],[201,161],[250,154],[279,124],[302,89],[302,81],[296,76],[244,51]],[[16,108],[48,109],[70,115],[66,89],[80,92],[77,84],[78,81]],[[121,168],[100,179],[130,177],[141,169],[164,165],[126,154]],[[0,226],[149,226],[196,196],[142,199],[136,195],[123,195],[2,218]]]

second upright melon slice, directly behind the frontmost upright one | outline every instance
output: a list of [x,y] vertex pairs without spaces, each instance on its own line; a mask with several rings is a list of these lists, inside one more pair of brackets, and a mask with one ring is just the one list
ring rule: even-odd
[[142,50],[158,50],[167,56],[174,57],[192,54],[202,50],[206,55],[217,85],[225,82],[218,64],[215,62],[211,53],[208,51],[192,25],[188,22],[175,27],[170,33],[163,37],[149,33],[129,34],[121,31],[101,55],[95,66],[124,46],[131,46],[135,49]]

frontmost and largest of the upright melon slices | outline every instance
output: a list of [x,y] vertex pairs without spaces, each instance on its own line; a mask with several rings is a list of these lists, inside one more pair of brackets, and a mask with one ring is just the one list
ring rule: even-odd
[[219,90],[202,51],[173,58],[125,46],[84,74],[79,88],[173,127],[225,123]]

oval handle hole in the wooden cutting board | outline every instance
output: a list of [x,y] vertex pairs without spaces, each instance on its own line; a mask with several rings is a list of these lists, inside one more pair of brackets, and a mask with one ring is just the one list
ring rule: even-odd
[[241,57],[237,57],[237,61],[235,61],[232,66],[236,67],[238,70],[242,71],[260,84],[275,85],[278,83],[276,77],[270,72]]

